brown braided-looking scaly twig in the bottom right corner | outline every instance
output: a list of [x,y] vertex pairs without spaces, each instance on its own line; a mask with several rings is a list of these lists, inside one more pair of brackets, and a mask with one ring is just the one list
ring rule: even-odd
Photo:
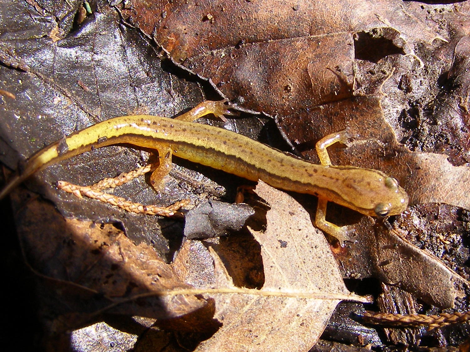
[[440,313],[439,315],[424,314],[392,314],[366,311],[363,316],[364,321],[372,324],[381,324],[394,327],[427,326],[430,330],[441,328],[446,325],[463,323],[470,320],[470,311],[455,313]]

